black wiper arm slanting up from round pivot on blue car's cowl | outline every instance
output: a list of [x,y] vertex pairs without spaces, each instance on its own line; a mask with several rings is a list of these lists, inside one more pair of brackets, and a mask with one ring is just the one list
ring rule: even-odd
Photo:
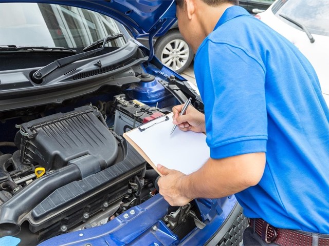
[[45,76],[47,76],[49,73],[55,71],[58,68],[64,67],[66,65],[69,65],[71,63],[74,63],[75,61],[87,57],[89,55],[93,55],[101,50],[104,49],[105,44],[111,40],[114,40],[118,37],[121,37],[123,34],[122,33],[116,33],[116,34],[109,34],[107,35],[105,38],[103,38],[103,45],[101,48],[95,49],[95,50],[91,50],[91,51],[87,51],[87,52],[83,52],[80,54],[76,54],[76,55],[71,55],[68,57],[64,57],[58,60],[53,61],[52,63],[48,64],[47,66],[39,69],[38,71],[36,71],[35,73],[33,73],[32,77],[38,81],[40,81],[41,79],[43,79]]

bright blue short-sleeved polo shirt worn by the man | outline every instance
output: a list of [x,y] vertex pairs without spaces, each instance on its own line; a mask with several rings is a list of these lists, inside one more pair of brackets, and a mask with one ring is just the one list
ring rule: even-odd
[[266,152],[261,181],[236,194],[245,215],[329,234],[329,111],[308,60],[234,6],[198,48],[194,72],[211,157]]

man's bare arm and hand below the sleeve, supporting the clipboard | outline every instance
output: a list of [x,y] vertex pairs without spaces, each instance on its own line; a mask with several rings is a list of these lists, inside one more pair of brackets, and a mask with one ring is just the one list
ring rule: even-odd
[[165,175],[158,181],[159,193],[172,206],[183,206],[197,197],[232,195],[257,185],[263,176],[265,162],[264,152],[209,158],[202,168],[190,175],[158,165]]

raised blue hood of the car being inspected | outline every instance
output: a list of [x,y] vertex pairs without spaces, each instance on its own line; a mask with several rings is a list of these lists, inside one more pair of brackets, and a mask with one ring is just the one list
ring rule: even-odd
[[137,38],[165,34],[176,20],[174,0],[0,0],[0,3],[32,2],[76,6],[108,15],[125,25]]

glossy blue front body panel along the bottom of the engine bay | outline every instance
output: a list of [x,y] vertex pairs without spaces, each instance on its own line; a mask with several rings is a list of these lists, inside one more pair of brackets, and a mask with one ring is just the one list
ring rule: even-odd
[[161,220],[168,214],[170,205],[159,194],[127,210],[103,226],[71,232],[53,237],[40,246],[51,245],[202,245],[214,236],[222,223],[229,216],[236,199],[197,199],[197,206],[206,227],[195,228],[182,240],[179,240]]

